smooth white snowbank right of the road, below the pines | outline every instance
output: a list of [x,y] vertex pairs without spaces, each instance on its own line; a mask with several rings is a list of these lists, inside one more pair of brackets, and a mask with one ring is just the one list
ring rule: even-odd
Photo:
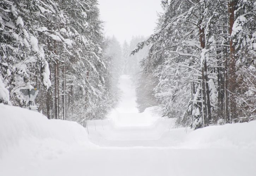
[[249,123],[209,126],[191,131],[185,137],[183,146],[256,149],[256,120]]

